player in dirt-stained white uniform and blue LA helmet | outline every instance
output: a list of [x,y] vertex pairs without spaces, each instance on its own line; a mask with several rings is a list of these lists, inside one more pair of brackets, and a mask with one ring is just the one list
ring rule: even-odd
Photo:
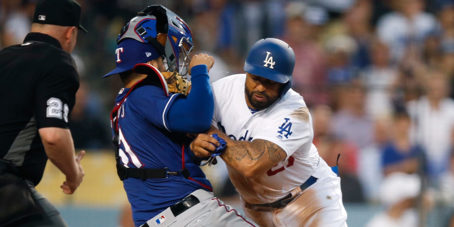
[[220,157],[241,195],[247,217],[262,227],[346,227],[341,179],[312,144],[312,119],[303,98],[290,89],[295,54],[288,44],[261,39],[244,70],[212,84],[213,127],[191,143],[208,157],[227,141]]

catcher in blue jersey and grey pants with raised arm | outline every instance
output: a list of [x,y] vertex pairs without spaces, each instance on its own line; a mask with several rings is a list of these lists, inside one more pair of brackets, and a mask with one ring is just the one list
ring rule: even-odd
[[[134,224],[254,226],[213,197],[188,150],[185,133],[210,128],[214,102],[208,70],[214,59],[207,54],[189,59],[191,30],[162,5],[139,12],[117,43],[117,68],[104,77],[119,74],[124,84],[111,123],[117,172]],[[183,76],[187,73],[192,84]]]

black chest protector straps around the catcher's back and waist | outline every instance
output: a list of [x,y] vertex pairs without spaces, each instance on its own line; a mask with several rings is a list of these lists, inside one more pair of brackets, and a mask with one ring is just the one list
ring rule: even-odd
[[118,144],[118,111],[123,104],[124,100],[128,97],[128,95],[134,90],[139,87],[142,87],[144,85],[157,85],[159,86],[160,84],[155,84],[151,83],[147,79],[142,79],[138,81],[136,84],[134,84],[131,89],[129,89],[128,93],[123,97],[121,102],[115,106],[115,108],[112,110],[110,113],[110,120],[112,122],[112,128],[114,129],[114,138],[112,140],[112,143],[114,144],[114,149],[115,149],[115,160],[117,162],[117,174],[120,180],[124,180],[126,178],[139,178],[142,180],[146,179],[157,179],[157,178],[168,178],[170,175],[182,175],[183,178],[189,178],[190,173],[187,168],[183,168],[182,170],[178,170],[177,172],[169,171],[168,168],[158,168],[158,169],[152,169],[152,168],[127,168],[123,166],[120,163],[120,155],[119,155],[119,144]]

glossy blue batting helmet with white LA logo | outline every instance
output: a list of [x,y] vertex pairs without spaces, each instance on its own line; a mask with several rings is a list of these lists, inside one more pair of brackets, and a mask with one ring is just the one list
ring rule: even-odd
[[286,84],[281,95],[291,87],[291,74],[295,67],[295,53],[286,42],[266,38],[252,45],[244,63],[244,71]]

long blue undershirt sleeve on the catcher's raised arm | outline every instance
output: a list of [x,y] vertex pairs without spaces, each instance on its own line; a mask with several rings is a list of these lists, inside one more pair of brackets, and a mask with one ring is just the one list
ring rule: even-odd
[[207,66],[196,65],[191,72],[190,94],[188,97],[179,95],[168,110],[168,124],[173,132],[204,133],[211,126],[214,100]]

